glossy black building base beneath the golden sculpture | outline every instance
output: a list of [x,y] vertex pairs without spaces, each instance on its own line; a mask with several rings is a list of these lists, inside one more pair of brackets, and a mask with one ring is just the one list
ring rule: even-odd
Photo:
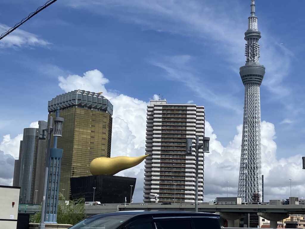
[[[85,201],[94,201],[101,203],[124,203],[125,197],[127,203],[130,202],[130,194],[135,190],[136,178],[124,176],[81,176],[70,178],[71,199],[85,198]],[[133,185],[131,187],[131,185]]]

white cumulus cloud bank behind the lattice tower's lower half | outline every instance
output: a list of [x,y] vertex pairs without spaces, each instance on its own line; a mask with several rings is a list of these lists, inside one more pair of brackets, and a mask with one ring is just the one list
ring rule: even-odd
[[[237,126],[237,134],[226,147],[217,140],[209,122],[206,122],[206,136],[210,137],[210,153],[205,154],[204,199],[213,200],[228,195],[236,196],[238,187],[242,125]],[[292,196],[304,190],[302,181],[301,155],[276,158],[274,124],[261,122],[262,175],[264,175],[264,201],[269,199],[288,198],[290,195],[289,178],[294,178]],[[285,173],[283,173],[285,171]],[[303,194],[300,192],[300,194]],[[305,194],[305,193],[304,193]]]

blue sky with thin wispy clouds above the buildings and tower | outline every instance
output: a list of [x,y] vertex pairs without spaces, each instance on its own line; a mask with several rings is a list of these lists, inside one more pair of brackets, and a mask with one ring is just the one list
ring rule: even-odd
[[[0,32],[44,3],[1,1]],[[250,4],[242,0],[55,2],[0,41],[0,139],[7,139],[2,140],[0,150],[4,155],[16,151],[19,146],[17,139],[12,143],[14,138],[31,122],[45,120],[48,100],[68,89],[107,91],[113,103],[117,102],[114,110],[123,109],[119,106],[128,109],[131,101],[135,112],[145,109],[154,94],[160,93],[170,103],[193,100],[205,106],[217,144],[228,149],[242,124],[244,86],[239,67],[245,62],[243,37]],[[266,67],[260,90],[261,120],[271,125],[266,124],[272,133],[266,132],[266,136],[275,144],[271,151],[276,163],[281,158],[289,162],[304,150],[304,7],[303,1],[256,1],[262,34],[260,64]],[[82,80],[84,72],[94,69],[103,74],[94,77],[109,82],[77,83],[76,75]],[[69,75],[70,86],[65,81],[66,87],[60,87],[59,76],[65,80]],[[87,88],[76,88],[82,85]],[[134,138],[128,155],[144,154],[145,117],[144,125],[125,117],[123,111],[116,117],[127,123]],[[119,154],[115,149],[112,154]],[[293,163],[299,163],[297,160]],[[233,184],[232,195],[236,189]]]

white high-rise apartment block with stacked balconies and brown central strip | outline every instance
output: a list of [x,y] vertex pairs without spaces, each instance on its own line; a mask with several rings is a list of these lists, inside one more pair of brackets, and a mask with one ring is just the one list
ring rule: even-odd
[[[186,155],[186,139],[199,144],[204,137],[205,113],[195,104],[151,100],[147,106],[144,202],[195,202],[195,150]],[[203,202],[203,150],[199,150],[198,202]]]

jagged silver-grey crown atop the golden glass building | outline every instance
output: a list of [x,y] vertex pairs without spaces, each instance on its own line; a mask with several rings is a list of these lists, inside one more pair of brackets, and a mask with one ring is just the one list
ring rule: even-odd
[[53,113],[56,108],[65,109],[67,107],[86,107],[93,110],[100,110],[113,114],[113,105],[107,100],[102,93],[95,93],[85,90],[74,90],[56,96],[48,101],[48,112]]

